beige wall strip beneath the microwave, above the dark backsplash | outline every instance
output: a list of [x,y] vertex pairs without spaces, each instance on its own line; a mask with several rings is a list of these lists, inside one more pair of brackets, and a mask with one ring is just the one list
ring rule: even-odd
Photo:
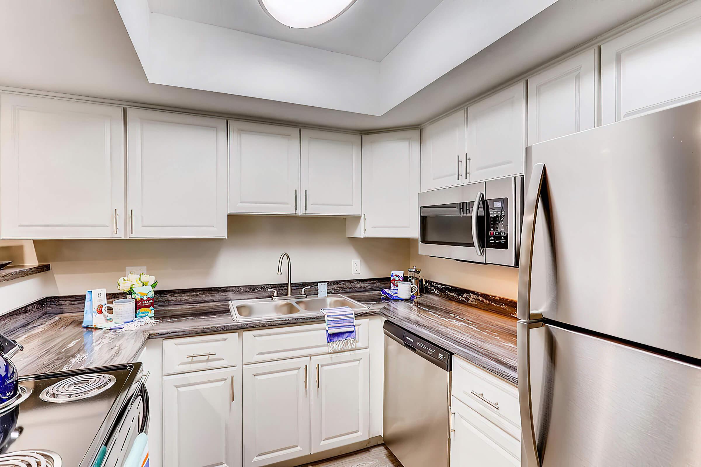
[[411,240],[410,248],[409,262],[421,267],[421,275],[426,279],[516,300],[517,267],[461,263],[419,255],[418,240]]

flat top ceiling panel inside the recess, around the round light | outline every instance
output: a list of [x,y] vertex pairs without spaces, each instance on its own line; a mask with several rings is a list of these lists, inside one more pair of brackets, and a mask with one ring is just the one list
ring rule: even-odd
[[357,0],[339,18],[309,29],[273,20],[258,0],[149,0],[153,13],[235,29],[379,62],[441,0]]

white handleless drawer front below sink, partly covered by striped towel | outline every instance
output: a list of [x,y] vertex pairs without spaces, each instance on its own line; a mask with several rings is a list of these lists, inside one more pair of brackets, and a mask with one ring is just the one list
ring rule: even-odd
[[[356,319],[356,349],[369,345],[369,320]],[[243,363],[328,354],[325,323],[247,330],[243,333]]]

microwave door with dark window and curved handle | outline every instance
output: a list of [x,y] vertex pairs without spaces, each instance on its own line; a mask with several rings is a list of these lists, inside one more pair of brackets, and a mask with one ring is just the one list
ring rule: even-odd
[[485,262],[484,183],[419,193],[418,202],[418,254]]

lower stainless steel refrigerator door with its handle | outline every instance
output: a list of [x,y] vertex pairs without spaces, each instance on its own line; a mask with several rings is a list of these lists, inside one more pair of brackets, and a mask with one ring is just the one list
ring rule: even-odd
[[701,466],[701,367],[533,326],[518,323],[523,467]]

